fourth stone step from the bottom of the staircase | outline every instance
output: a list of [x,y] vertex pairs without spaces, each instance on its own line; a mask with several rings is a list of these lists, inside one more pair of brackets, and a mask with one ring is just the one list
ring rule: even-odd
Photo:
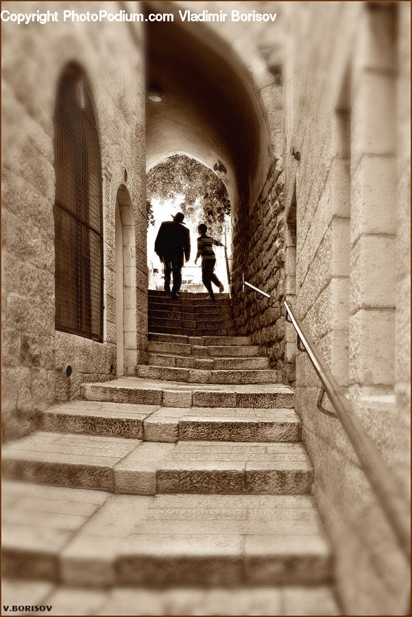
[[144,441],[300,441],[291,409],[179,409],[77,400],[50,407],[40,428],[55,433],[114,435]]

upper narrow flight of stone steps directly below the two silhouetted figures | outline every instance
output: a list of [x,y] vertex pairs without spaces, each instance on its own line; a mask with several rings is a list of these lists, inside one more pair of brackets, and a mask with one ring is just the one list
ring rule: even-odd
[[149,330],[149,365],[137,367],[139,377],[227,385],[282,378],[247,337],[235,336],[227,293],[213,302],[207,293],[182,293],[173,300],[149,291]]

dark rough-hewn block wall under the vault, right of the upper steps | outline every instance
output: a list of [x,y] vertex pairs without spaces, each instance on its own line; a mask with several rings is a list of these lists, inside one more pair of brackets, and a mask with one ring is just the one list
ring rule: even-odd
[[[240,335],[251,335],[271,359],[271,365],[286,374],[287,328],[285,309],[285,219],[282,158],[276,160],[262,193],[250,214],[239,208],[232,218],[233,312]],[[242,289],[242,276],[258,289],[271,294],[270,300],[256,291]]]

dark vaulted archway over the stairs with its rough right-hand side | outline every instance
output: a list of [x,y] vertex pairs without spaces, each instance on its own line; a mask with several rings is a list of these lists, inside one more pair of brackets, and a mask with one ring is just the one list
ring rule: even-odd
[[[251,69],[243,58],[250,46],[233,46],[208,25],[193,29],[175,19],[148,24],[146,34],[147,168],[177,152],[226,168],[234,322],[286,380],[282,84],[257,48]],[[274,304],[244,293],[243,276]]]

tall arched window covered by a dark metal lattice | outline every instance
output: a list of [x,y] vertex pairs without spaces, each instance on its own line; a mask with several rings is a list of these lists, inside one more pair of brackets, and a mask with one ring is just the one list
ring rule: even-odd
[[101,160],[93,106],[77,66],[58,84],[54,127],[56,329],[101,341]]

